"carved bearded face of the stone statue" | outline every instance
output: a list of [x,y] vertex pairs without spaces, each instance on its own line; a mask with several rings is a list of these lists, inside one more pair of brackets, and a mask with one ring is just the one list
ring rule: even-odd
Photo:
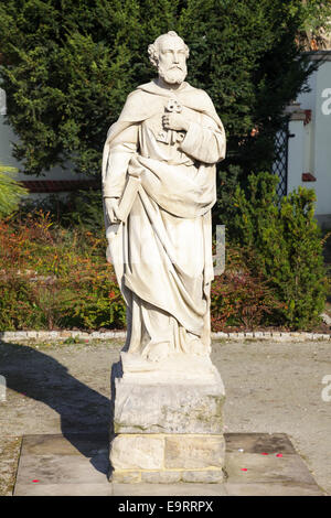
[[170,84],[181,84],[188,74],[186,51],[180,37],[166,35],[159,43],[159,75]]

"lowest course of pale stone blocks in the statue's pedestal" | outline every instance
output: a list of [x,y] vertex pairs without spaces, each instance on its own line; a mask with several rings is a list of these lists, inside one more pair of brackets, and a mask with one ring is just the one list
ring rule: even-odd
[[224,456],[222,435],[120,434],[111,444],[111,481],[220,483]]

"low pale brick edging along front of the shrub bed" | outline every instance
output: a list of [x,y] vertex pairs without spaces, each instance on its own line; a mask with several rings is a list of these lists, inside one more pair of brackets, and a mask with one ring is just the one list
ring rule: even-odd
[[[66,339],[66,338],[82,338],[86,341],[92,339],[114,339],[125,338],[126,331],[106,331],[92,333],[81,331],[2,331],[0,332],[0,341],[13,342],[15,339]],[[308,333],[308,332],[263,332],[255,331],[250,333],[212,333],[213,339],[269,339],[275,342],[307,342],[319,339],[331,339],[331,334],[322,333]]]

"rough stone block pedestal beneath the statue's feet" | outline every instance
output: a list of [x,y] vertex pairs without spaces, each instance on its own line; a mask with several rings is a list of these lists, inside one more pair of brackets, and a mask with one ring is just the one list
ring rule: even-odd
[[224,386],[209,357],[153,364],[121,353],[115,379],[111,481],[220,483]]

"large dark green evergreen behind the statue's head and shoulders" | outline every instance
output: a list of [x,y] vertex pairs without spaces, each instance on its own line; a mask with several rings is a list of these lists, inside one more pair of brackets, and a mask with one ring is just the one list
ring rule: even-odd
[[[147,47],[175,30],[188,80],[212,97],[241,171],[269,169],[285,106],[313,69],[298,34],[311,0],[7,0],[0,3],[1,87],[20,137],[14,155],[41,174],[71,159],[99,175],[102,148],[126,96],[154,75]],[[255,137],[252,130],[258,129]]]

